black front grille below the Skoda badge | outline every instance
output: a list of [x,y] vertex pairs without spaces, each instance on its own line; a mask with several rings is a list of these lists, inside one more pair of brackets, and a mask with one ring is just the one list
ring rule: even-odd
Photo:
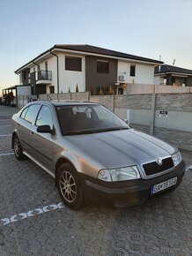
[[143,165],[146,176],[157,174],[159,172],[165,171],[166,169],[171,169],[173,167],[174,162],[172,157],[162,159],[162,165],[159,165],[158,162],[148,162]]

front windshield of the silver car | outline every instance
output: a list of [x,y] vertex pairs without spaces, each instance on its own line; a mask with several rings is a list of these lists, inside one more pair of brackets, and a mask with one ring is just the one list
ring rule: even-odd
[[55,108],[63,135],[129,129],[128,124],[101,105],[87,104]]

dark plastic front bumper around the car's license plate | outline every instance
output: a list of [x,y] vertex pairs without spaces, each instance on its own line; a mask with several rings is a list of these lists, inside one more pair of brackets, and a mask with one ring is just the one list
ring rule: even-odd
[[[173,171],[151,179],[137,179],[122,182],[104,182],[97,178],[81,175],[85,201],[88,204],[112,207],[129,207],[140,205],[148,200],[173,191],[185,174],[185,163],[182,161]],[[177,184],[151,195],[151,185],[159,184],[172,177],[177,177]]]

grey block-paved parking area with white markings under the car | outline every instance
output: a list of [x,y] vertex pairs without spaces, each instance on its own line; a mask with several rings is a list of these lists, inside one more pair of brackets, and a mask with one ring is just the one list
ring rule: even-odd
[[[140,207],[63,206],[55,182],[11,150],[11,115],[0,106],[0,255],[192,255],[192,171],[180,187]],[[187,165],[192,154],[182,151]]]

